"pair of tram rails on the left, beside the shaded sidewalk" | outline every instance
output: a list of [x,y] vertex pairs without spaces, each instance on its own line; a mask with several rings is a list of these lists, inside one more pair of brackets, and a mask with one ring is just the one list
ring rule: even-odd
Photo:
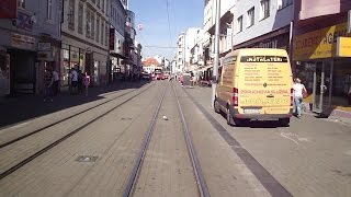
[[[54,147],[56,147],[57,144],[59,144],[59,143],[61,143],[63,141],[69,139],[70,137],[72,137],[72,136],[76,135],[77,132],[83,130],[83,129],[84,129],[86,127],[88,127],[89,125],[95,123],[97,120],[101,119],[102,117],[104,117],[105,115],[110,114],[110,113],[113,112],[114,109],[121,107],[122,105],[124,105],[124,104],[126,104],[127,102],[132,101],[132,100],[135,99],[136,96],[138,96],[138,95],[140,95],[141,93],[146,92],[146,91],[149,90],[151,86],[154,86],[154,84],[150,85],[150,86],[148,86],[148,88],[146,88],[146,89],[144,89],[144,90],[141,90],[141,91],[138,92],[137,94],[128,97],[127,100],[123,101],[122,103],[115,105],[114,107],[110,108],[109,111],[102,113],[102,114],[99,115],[98,117],[94,117],[93,119],[89,120],[88,123],[84,123],[84,124],[81,125],[80,127],[78,127],[78,128],[69,131],[69,132],[66,134],[65,136],[63,136],[63,137],[60,137],[59,139],[55,140],[54,142],[50,142],[49,144],[45,146],[44,148],[39,149],[38,151],[32,153],[30,157],[21,160],[19,163],[16,163],[16,164],[12,165],[11,167],[2,171],[1,174],[0,174],[0,179],[9,176],[10,174],[12,174],[13,172],[15,172],[16,170],[19,170],[19,169],[21,169],[22,166],[26,165],[27,163],[30,163],[30,162],[33,161],[34,159],[38,158],[39,155],[44,154],[44,153],[47,152],[48,150],[50,150],[50,149],[53,149]],[[98,106],[102,106],[103,104],[106,104],[106,103],[109,103],[109,102],[112,102],[112,101],[114,101],[114,100],[116,100],[116,99],[118,99],[118,97],[122,97],[123,95],[127,95],[127,94],[129,94],[129,93],[132,93],[132,92],[135,92],[135,91],[136,91],[136,90],[126,92],[126,93],[124,93],[124,94],[122,94],[122,95],[118,95],[118,96],[116,96],[116,97],[114,97],[114,99],[111,99],[111,100],[109,100],[109,101],[106,101],[106,102],[103,102],[103,103],[101,103],[101,104],[98,104],[97,106],[93,106],[93,107],[90,107],[90,108],[88,108],[88,109],[84,109],[84,111],[82,111],[82,112],[80,112],[80,113],[77,113],[77,114],[72,115],[70,118],[76,117],[76,116],[78,116],[78,115],[81,115],[81,114],[83,114],[84,112],[91,111],[92,108],[97,108]],[[63,121],[68,120],[68,119],[69,119],[69,118],[64,118],[63,120],[59,120],[59,123],[63,123]],[[57,124],[59,124],[59,123],[56,121],[55,125],[57,125]],[[52,124],[50,127],[53,127],[53,126],[55,126],[55,125]],[[11,140],[11,141],[12,141],[11,143],[7,142],[8,144],[7,144],[7,146],[3,146],[3,147],[1,147],[1,148],[5,148],[5,147],[8,147],[8,146],[10,146],[10,144],[13,144],[13,143],[22,140],[22,139],[25,139],[25,138],[27,138],[27,137],[30,137],[30,136],[33,136],[34,134],[38,134],[39,131],[43,131],[43,130],[45,130],[45,129],[47,129],[47,128],[49,128],[49,127],[46,127],[46,128],[43,128],[43,129],[39,129],[39,130],[36,130],[36,131],[32,131],[31,135],[25,135],[25,137],[19,137],[18,140]],[[3,144],[4,144],[4,143],[3,143]],[[0,150],[1,150],[1,149],[0,149]]]

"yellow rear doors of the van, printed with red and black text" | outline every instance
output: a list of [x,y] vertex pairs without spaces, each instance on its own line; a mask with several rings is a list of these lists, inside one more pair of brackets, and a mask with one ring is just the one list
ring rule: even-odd
[[239,113],[288,114],[292,71],[287,56],[245,55],[239,61]]

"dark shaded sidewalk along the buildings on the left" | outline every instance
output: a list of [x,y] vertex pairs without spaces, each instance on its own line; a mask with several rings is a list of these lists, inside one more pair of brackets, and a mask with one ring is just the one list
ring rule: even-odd
[[0,97],[0,128],[29,120],[38,116],[58,112],[72,106],[81,105],[103,99],[103,93],[116,90],[137,89],[147,84],[140,82],[115,82],[106,86],[89,88],[89,95],[70,95],[68,88],[61,88],[59,95],[53,102],[44,102],[44,95],[19,94]]

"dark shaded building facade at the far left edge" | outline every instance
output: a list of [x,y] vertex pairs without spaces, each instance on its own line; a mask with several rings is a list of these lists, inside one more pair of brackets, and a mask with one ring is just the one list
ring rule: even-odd
[[58,69],[60,2],[0,2],[0,96],[41,93],[45,69]]

